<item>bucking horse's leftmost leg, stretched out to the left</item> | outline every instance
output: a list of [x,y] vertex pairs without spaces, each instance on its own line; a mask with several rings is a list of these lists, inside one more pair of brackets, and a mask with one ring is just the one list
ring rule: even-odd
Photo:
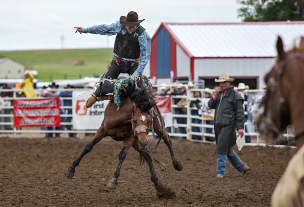
[[95,133],[94,138],[89,143],[87,143],[87,145],[85,146],[85,148],[82,151],[82,153],[80,154],[80,156],[72,163],[71,166],[69,166],[66,169],[66,171],[65,171],[66,177],[73,178],[74,173],[75,173],[75,168],[77,165],[79,165],[81,159],[93,149],[95,144],[97,144],[102,138],[105,138],[105,137],[106,136],[104,134],[103,126],[101,126]]

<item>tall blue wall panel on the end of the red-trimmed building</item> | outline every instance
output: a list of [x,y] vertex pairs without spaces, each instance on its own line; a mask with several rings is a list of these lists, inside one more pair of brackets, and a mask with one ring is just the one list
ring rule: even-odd
[[170,36],[164,27],[157,34],[157,77],[170,77]]

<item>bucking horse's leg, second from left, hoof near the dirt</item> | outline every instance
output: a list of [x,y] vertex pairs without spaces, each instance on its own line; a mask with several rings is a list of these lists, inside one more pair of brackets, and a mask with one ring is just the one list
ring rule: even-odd
[[118,160],[117,168],[114,172],[114,177],[106,183],[106,186],[111,190],[116,189],[117,179],[120,176],[120,169],[123,165],[123,162],[126,159],[127,151],[130,149],[133,142],[134,142],[134,138],[128,138],[126,141],[124,141],[124,147],[123,147],[122,151],[120,151],[119,156],[118,156],[119,160]]

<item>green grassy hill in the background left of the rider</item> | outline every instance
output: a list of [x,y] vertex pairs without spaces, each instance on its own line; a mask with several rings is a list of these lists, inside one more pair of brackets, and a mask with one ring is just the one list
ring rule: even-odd
[[40,81],[52,81],[100,76],[111,61],[112,51],[112,48],[0,51],[0,58],[9,58],[25,65],[25,69],[37,70],[35,78]]

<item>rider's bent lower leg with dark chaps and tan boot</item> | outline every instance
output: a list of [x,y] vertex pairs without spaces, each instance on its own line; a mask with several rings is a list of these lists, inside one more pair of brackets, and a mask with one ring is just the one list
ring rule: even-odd
[[114,84],[115,82],[113,80],[103,79],[102,84],[100,84],[91,97],[88,98],[86,107],[90,108],[96,101],[109,99],[110,96],[103,96],[114,91]]

